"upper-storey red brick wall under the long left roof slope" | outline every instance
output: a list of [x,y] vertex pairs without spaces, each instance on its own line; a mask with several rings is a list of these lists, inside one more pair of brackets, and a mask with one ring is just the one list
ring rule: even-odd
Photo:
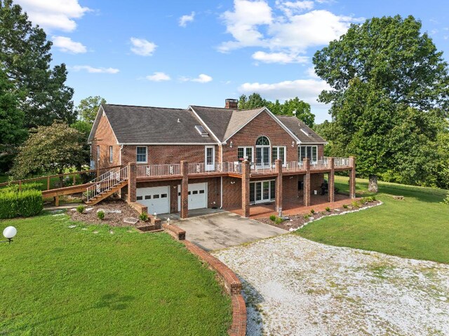
[[[135,162],[135,148],[137,146],[123,146],[121,153],[122,165]],[[205,161],[205,146],[203,145],[170,145],[170,146],[147,146],[147,165],[166,165],[180,163],[187,160],[189,163],[202,163]],[[215,162],[218,162],[218,146],[215,146]]]

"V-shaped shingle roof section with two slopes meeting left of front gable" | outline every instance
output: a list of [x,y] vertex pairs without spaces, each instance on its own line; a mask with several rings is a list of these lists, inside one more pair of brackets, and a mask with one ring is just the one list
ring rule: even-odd
[[225,141],[264,108],[232,110],[219,107],[190,106],[220,141]]

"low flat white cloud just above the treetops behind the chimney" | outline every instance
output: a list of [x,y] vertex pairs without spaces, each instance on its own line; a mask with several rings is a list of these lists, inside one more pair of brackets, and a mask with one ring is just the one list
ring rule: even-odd
[[251,94],[260,93],[266,99],[286,100],[294,97],[300,97],[304,102],[311,106],[326,106],[316,101],[323,90],[329,90],[329,85],[323,80],[316,79],[297,79],[285,80],[279,83],[244,83],[240,85],[239,92]]

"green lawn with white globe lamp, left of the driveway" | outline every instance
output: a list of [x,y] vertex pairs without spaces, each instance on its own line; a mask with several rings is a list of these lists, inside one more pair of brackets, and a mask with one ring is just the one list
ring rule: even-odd
[[227,335],[229,297],[169,235],[65,214],[8,225],[18,235],[0,244],[0,335]]

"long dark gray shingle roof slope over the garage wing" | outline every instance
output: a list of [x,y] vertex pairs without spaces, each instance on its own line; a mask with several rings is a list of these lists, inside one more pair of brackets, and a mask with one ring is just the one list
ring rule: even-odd
[[[210,144],[195,130],[201,125],[192,111],[161,107],[103,104],[119,144]],[[178,120],[180,121],[178,123]]]

